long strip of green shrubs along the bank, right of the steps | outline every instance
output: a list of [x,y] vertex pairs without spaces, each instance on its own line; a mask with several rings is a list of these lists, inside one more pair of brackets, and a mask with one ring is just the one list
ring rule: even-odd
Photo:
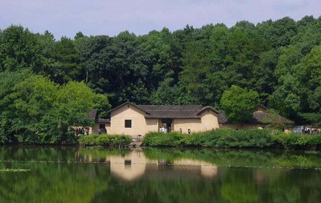
[[144,146],[321,149],[321,135],[287,134],[270,128],[225,128],[192,134],[149,132],[142,143]]

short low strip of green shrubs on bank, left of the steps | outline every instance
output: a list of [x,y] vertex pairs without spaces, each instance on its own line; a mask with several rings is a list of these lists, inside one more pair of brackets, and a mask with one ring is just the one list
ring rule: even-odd
[[90,135],[83,135],[79,138],[80,145],[119,145],[122,141],[122,137],[125,137],[123,143],[130,144],[132,142],[128,135],[108,135],[93,133]]

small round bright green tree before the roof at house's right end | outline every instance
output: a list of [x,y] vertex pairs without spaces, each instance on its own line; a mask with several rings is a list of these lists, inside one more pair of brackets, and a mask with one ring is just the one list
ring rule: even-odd
[[237,86],[232,86],[230,90],[224,91],[221,98],[224,114],[236,124],[242,124],[245,119],[252,118],[251,113],[256,109],[258,102],[258,92],[247,91],[247,89]]

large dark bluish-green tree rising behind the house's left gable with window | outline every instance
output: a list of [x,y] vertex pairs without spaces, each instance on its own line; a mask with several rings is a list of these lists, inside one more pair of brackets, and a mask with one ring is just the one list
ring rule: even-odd
[[106,94],[112,106],[131,99],[123,89],[137,84],[139,79],[145,84],[149,75],[149,59],[132,40],[90,37],[80,46],[80,57],[88,69],[88,86],[96,93]]

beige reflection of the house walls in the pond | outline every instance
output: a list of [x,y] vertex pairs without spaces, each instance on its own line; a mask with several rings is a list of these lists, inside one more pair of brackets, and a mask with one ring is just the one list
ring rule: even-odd
[[202,160],[180,159],[163,163],[163,160],[149,160],[143,151],[133,150],[125,157],[110,156],[110,174],[126,181],[143,176],[162,179],[213,179],[217,175],[217,166]]

